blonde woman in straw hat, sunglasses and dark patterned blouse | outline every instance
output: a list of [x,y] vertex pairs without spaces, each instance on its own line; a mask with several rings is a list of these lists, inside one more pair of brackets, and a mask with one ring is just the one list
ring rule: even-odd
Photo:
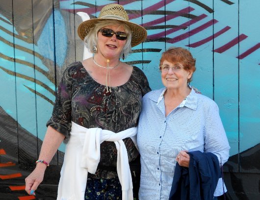
[[129,22],[123,6],[108,4],[97,19],[81,23],[78,35],[93,57],[64,72],[35,170],[26,178],[34,191],[55,151],[67,142],[57,200],[133,200],[130,168],[136,148],[141,98],[151,91],[137,67],[120,61],[147,36]]

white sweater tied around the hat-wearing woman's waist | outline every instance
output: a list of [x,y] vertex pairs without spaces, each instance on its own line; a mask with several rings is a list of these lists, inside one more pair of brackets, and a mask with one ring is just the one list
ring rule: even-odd
[[[117,174],[122,186],[122,200],[133,200],[132,178],[124,138],[136,146],[137,128],[114,133],[101,128],[85,128],[72,122],[60,172],[57,200],[84,200],[87,174],[95,174],[100,161],[100,144],[114,142],[117,149]],[[137,147],[137,146],[136,146]]]

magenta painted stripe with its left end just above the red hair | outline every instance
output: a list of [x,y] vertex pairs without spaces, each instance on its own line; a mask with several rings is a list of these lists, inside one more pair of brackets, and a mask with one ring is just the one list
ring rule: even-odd
[[217,22],[218,22],[217,20],[210,20],[207,23],[205,23],[204,25],[201,25],[201,26],[199,26],[197,28],[194,28],[193,30],[188,31],[187,33],[181,34],[181,35],[179,35],[177,37],[174,37],[172,39],[167,40],[167,42],[169,42],[169,43],[179,42],[181,40],[184,40],[184,39],[186,39],[186,38],[188,38],[188,37],[190,37],[190,36],[200,32],[200,31],[208,28],[209,26],[211,26],[213,24],[216,24]]

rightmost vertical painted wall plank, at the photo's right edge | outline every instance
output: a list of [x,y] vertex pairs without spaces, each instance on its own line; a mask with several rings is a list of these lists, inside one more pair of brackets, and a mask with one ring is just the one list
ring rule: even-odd
[[[239,153],[241,172],[260,173],[260,2],[239,1]],[[250,23],[249,23],[250,22]]]

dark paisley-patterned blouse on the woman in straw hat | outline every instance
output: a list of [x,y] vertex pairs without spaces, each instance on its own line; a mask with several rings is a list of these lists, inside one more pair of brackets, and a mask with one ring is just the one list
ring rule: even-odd
[[[151,91],[144,73],[133,66],[130,79],[123,85],[111,87],[106,93],[105,85],[96,82],[85,70],[81,62],[66,68],[58,86],[52,117],[47,122],[69,140],[71,121],[86,128],[99,127],[115,133],[137,126],[141,111],[142,97]],[[129,161],[139,152],[130,138],[124,143]],[[117,150],[114,142],[101,144],[100,165],[116,167]],[[114,178],[116,172],[98,169],[94,178]]]

